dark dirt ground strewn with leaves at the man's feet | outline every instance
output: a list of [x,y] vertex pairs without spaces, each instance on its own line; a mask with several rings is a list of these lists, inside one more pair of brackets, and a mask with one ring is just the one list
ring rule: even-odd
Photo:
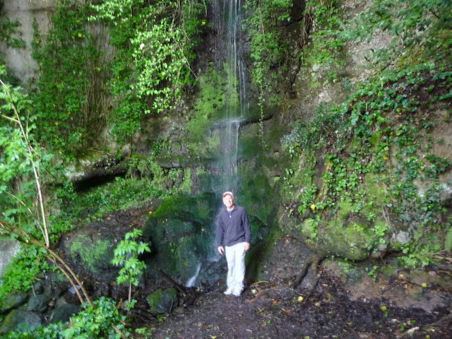
[[314,291],[261,284],[239,298],[215,290],[177,309],[153,329],[153,338],[452,338],[449,313],[398,309],[388,302],[350,301],[340,280],[323,270]]

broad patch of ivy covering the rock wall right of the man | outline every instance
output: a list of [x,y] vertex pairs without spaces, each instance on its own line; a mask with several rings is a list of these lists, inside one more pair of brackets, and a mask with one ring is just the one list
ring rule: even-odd
[[[441,249],[434,234],[445,227],[439,175],[452,162],[431,153],[436,120],[420,112],[451,102],[451,81],[451,67],[434,64],[388,71],[344,105],[318,114],[309,126],[296,126],[285,139],[295,164],[309,159],[304,156],[309,152],[323,153],[325,164],[318,185],[311,181],[314,173],[302,175],[300,167],[287,170],[289,190],[294,180],[303,180],[295,212],[307,213],[311,207],[316,213],[335,213],[350,206],[350,212],[376,220],[375,206],[381,206],[386,218],[393,215],[394,223],[413,234],[401,248],[403,263],[428,263],[429,255]],[[423,182],[422,194],[416,181]],[[385,227],[393,230],[388,222]],[[378,237],[383,239],[385,232]]]

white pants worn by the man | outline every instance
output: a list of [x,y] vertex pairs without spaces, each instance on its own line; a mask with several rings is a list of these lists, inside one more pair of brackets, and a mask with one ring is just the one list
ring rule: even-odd
[[227,288],[242,293],[245,278],[245,243],[225,246],[227,261]]

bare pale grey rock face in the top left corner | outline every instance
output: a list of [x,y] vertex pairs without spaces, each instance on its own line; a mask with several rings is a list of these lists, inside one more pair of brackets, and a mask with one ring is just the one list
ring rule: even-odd
[[18,20],[20,23],[20,38],[25,41],[25,48],[10,48],[0,44],[0,51],[5,54],[8,69],[23,85],[37,75],[37,64],[31,56],[32,23],[36,20],[40,31],[47,32],[51,26],[50,17],[54,6],[54,0],[3,0],[0,3],[2,13],[11,22]]

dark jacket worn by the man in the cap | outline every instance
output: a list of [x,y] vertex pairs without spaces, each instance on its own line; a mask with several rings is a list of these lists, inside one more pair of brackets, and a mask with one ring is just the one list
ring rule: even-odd
[[241,206],[234,206],[232,215],[227,213],[226,208],[218,215],[217,246],[222,242],[225,246],[232,246],[239,242],[250,242],[251,227],[249,227],[248,215]]

